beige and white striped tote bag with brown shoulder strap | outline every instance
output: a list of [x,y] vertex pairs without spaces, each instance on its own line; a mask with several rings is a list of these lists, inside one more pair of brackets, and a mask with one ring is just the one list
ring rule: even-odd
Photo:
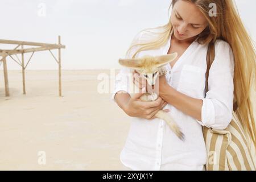
[[[214,43],[210,43],[207,53],[207,72],[205,73],[205,93],[208,91],[208,74],[214,60]],[[203,127],[203,135],[207,148],[207,171],[254,170],[255,164],[245,132],[233,105],[233,117],[225,130]]]

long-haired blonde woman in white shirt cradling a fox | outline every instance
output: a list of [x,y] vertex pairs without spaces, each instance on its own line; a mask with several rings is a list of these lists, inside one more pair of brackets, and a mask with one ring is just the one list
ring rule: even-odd
[[[159,78],[158,100],[150,104],[139,101],[142,93],[130,97],[129,69],[121,69],[115,80],[112,98],[133,117],[120,159],[133,170],[204,170],[207,154],[201,126],[225,129],[232,120],[233,101],[237,101],[236,113],[256,144],[250,96],[250,88],[256,86],[255,49],[233,1],[174,0],[171,6],[170,21],[155,28],[156,32],[140,32],[127,51],[129,58],[178,53],[177,59],[166,65],[166,77]],[[215,43],[216,56],[204,98],[210,42]],[[137,73],[134,78],[140,89],[146,86]],[[170,111],[185,135],[184,142],[154,117],[159,109]]]

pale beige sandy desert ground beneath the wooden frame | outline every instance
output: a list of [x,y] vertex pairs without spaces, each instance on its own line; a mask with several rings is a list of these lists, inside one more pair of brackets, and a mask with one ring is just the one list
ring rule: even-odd
[[59,97],[57,71],[26,71],[26,95],[22,72],[9,71],[5,97],[0,71],[0,169],[122,170],[129,117],[97,92],[102,72],[63,71]]

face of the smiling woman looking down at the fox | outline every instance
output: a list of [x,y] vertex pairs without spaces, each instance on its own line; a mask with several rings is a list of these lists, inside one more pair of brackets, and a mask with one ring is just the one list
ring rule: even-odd
[[207,19],[196,5],[183,0],[175,3],[171,22],[175,38],[184,41],[199,35],[208,26]]

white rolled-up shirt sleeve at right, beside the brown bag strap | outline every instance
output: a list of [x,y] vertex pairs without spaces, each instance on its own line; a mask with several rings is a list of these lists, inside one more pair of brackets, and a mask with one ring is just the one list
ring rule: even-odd
[[234,98],[234,56],[232,48],[223,40],[215,44],[215,59],[210,67],[208,92],[202,98],[200,125],[224,130],[232,121]]

